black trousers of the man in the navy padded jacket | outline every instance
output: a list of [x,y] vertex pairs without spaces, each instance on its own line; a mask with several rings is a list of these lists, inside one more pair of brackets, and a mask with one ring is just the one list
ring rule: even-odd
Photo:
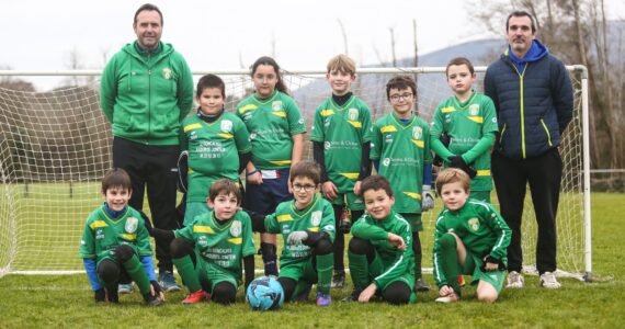
[[495,151],[491,168],[501,216],[512,230],[508,247],[508,270],[519,272],[523,266],[521,218],[526,184],[530,183],[538,226],[536,268],[541,274],[555,271],[556,213],[562,175],[562,160],[558,149],[525,160],[511,160]]

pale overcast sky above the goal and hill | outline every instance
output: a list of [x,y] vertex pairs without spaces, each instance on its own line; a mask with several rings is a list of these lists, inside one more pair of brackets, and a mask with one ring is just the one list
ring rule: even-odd
[[[76,52],[86,69],[100,69],[136,38],[135,10],[147,0],[32,1],[0,4],[0,66],[20,70],[63,70]],[[271,55],[287,69],[322,69],[344,52],[359,65],[390,60],[395,30],[397,57],[412,54],[417,20],[421,54],[488,36],[469,20],[465,1],[417,0],[154,0],[164,16],[162,41],[173,44],[192,70],[238,69]],[[613,18],[625,16],[623,0],[607,0]],[[503,24],[503,23],[502,23]]]

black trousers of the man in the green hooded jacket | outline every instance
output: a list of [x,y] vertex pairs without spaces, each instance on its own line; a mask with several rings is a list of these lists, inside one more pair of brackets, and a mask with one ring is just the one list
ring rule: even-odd
[[[180,147],[177,145],[143,145],[113,138],[113,167],[126,170],[133,183],[129,205],[139,211],[144,208],[147,186],[151,218],[157,228],[178,228],[175,181],[179,154]],[[156,257],[159,271],[173,270],[168,241],[156,239]]]

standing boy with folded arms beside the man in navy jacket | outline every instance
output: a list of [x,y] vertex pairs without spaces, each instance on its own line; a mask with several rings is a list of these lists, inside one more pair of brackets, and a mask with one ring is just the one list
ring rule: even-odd
[[[492,100],[471,89],[476,75],[473,64],[454,58],[445,70],[454,95],[441,102],[430,128],[432,149],[444,167],[459,168],[471,178],[470,197],[490,202],[490,148],[497,134]],[[446,134],[448,145],[440,137]]]

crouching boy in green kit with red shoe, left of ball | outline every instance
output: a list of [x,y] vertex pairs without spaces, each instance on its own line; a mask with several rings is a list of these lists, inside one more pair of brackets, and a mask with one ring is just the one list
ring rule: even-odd
[[245,286],[254,279],[254,254],[250,217],[238,211],[241,193],[236,183],[220,179],[211,185],[206,200],[212,212],[196,216],[174,231],[154,228],[152,235],[171,241],[171,256],[189,295],[182,304],[212,298],[235,303],[246,271]]

